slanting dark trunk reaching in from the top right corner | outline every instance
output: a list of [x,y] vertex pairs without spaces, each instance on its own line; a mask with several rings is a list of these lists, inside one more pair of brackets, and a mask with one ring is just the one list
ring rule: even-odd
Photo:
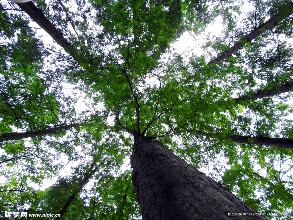
[[273,15],[268,21],[261,24],[249,34],[241,38],[238,42],[236,42],[231,48],[229,48],[225,53],[219,55],[216,59],[209,61],[207,65],[211,65],[213,63],[218,63],[225,58],[229,57],[232,53],[234,53],[239,48],[243,47],[248,42],[251,42],[253,39],[264,33],[265,31],[277,26],[277,24],[287,18],[289,15],[293,13],[293,2],[291,2],[286,8],[280,9],[280,13]]

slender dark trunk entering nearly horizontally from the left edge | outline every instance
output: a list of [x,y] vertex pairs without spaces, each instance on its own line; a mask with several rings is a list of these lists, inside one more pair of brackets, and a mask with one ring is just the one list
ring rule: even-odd
[[81,126],[81,124],[62,125],[62,126],[58,126],[58,127],[54,127],[54,128],[42,129],[39,131],[4,133],[4,134],[0,135],[0,142],[42,136],[42,135],[46,135],[46,134],[50,134],[50,133],[54,133],[57,131],[62,131],[64,129],[74,128],[74,127],[78,127],[78,126]]

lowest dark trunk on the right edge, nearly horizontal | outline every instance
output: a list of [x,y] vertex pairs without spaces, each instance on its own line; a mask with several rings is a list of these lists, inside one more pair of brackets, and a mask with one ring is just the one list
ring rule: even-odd
[[[189,132],[191,132],[189,130]],[[211,133],[196,131],[195,133],[210,137],[210,138],[217,138],[214,137]],[[254,136],[228,136],[226,138],[217,138],[224,141],[235,141],[239,143],[246,143],[246,144],[257,144],[257,145],[265,145],[270,147],[276,148],[283,148],[283,149],[293,149],[293,139],[292,138],[268,138],[268,137],[254,137]]]

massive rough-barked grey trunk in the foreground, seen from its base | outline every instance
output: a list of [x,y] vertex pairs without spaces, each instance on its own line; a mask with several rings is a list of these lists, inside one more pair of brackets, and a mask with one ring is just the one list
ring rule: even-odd
[[131,165],[144,220],[266,219],[159,141],[134,134]]

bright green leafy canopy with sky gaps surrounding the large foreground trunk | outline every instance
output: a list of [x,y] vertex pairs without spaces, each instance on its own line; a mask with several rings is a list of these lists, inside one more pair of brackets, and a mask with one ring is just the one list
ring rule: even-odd
[[139,133],[293,219],[292,1],[0,4],[1,217],[140,219]]

